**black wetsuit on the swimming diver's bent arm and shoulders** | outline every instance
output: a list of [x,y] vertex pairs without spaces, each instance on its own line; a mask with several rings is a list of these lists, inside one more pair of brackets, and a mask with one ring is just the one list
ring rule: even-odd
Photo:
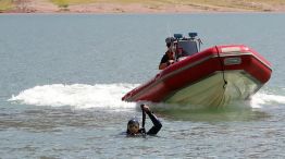
[[[159,121],[159,119],[152,113],[152,112],[146,112],[148,114],[148,117],[150,118],[150,120],[153,123],[153,126],[147,132],[145,133],[145,129],[140,129],[139,133],[136,134],[135,136],[139,136],[139,135],[156,135],[160,129],[162,127],[161,122]],[[126,131],[126,135],[133,136],[128,131]]]

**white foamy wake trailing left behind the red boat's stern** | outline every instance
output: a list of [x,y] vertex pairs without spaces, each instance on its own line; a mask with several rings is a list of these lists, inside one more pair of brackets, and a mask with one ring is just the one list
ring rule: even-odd
[[135,84],[52,84],[35,86],[12,96],[9,101],[34,106],[72,106],[75,109],[87,108],[134,108],[134,102],[124,102],[121,98]]

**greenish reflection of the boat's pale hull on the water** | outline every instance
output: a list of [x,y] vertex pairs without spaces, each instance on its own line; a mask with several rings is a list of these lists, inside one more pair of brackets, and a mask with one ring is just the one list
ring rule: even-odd
[[197,122],[255,121],[270,117],[269,113],[246,106],[245,103],[218,108],[159,105],[153,106],[153,110],[168,119]]

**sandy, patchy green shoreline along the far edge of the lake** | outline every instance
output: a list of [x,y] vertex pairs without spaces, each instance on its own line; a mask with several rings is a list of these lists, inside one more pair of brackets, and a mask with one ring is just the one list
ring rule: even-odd
[[[3,0],[0,2],[0,13],[90,13],[90,14],[168,14],[168,13],[284,13],[285,2],[236,2],[230,0],[226,4],[208,3],[166,3],[156,1],[110,2],[108,0],[88,3],[72,3],[69,0]],[[82,0],[84,1],[84,0]],[[253,0],[252,0],[253,1]]]

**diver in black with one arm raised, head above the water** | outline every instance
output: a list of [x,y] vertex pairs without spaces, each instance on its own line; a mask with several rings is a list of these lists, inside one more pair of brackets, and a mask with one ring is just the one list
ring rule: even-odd
[[[131,119],[127,122],[127,131],[126,131],[126,135],[127,136],[144,136],[144,135],[156,135],[160,129],[162,127],[161,122],[158,120],[158,118],[150,111],[149,107],[146,105],[141,105],[141,110],[142,110],[142,127],[139,129],[139,122],[137,119]],[[153,123],[153,126],[146,132],[145,130],[145,119],[146,119],[146,114],[148,114],[148,117],[150,118],[150,120]]]

